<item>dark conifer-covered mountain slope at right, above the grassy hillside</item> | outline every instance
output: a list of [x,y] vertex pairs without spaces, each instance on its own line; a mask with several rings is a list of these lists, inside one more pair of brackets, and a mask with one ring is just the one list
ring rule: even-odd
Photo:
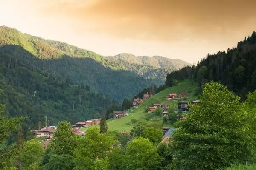
[[212,80],[221,82],[244,100],[248,92],[256,89],[256,33],[245,37],[236,48],[208,54],[197,66],[168,74],[166,85],[172,86],[175,79],[187,78],[195,79],[200,87]]

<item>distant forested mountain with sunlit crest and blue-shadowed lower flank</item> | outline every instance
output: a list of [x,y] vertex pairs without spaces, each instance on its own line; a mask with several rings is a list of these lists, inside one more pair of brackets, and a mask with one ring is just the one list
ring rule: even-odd
[[[104,57],[67,43],[44,40],[0,26],[0,45],[18,45],[38,60],[25,59],[25,65],[44,70],[75,85],[90,87],[104,96],[122,101],[149,85],[160,85],[166,74],[189,63],[165,57]],[[19,51],[2,48],[3,53],[20,58]],[[119,56],[119,57],[118,57]],[[141,62],[138,62],[141,61]],[[158,63],[158,65],[157,65]]]

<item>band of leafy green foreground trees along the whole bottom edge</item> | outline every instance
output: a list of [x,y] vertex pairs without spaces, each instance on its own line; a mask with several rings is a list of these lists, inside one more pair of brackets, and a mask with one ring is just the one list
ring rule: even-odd
[[[212,95],[214,94],[214,95]],[[0,149],[3,170],[249,170],[256,161],[256,91],[244,102],[218,82],[204,85],[199,105],[190,105],[185,120],[177,120],[172,138],[163,140],[163,125],[142,121],[130,134],[108,130],[103,114],[100,129],[89,127],[84,137],[58,123],[47,147],[25,140]],[[3,107],[1,107],[3,108]],[[0,116],[0,142],[24,117]]]

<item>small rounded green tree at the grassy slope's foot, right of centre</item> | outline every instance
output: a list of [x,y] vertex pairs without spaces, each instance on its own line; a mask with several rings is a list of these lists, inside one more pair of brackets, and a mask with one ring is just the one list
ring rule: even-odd
[[142,137],[149,139],[153,144],[158,144],[163,139],[162,130],[156,129],[154,127],[146,127],[143,130]]

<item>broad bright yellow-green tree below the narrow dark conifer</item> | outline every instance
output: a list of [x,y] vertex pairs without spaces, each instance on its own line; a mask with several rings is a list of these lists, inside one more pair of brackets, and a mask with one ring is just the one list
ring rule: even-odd
[[[78,138],[74,150],[74,170],[106,167],[109,164],[108,154],[116,143],[112,136],[99,133],[96,127],[89,128],[84,138]],[[106,162],[107,161],[107,162]]]

